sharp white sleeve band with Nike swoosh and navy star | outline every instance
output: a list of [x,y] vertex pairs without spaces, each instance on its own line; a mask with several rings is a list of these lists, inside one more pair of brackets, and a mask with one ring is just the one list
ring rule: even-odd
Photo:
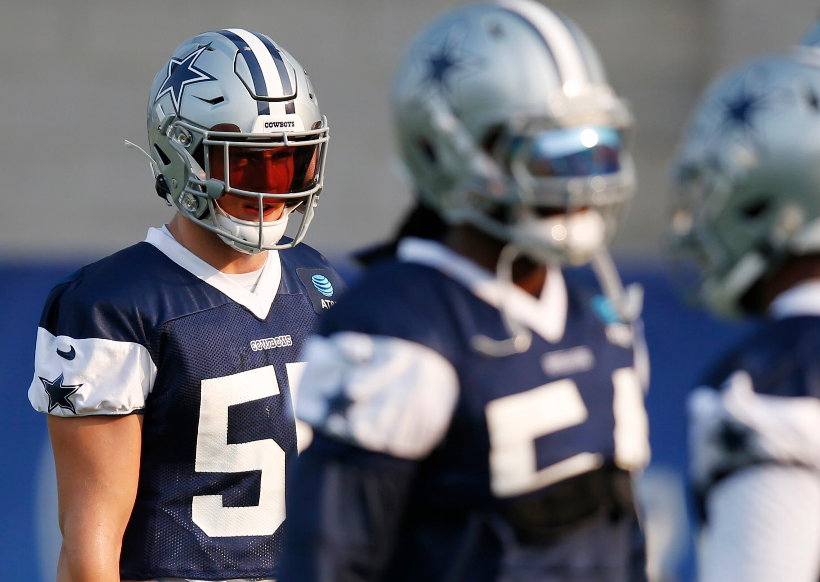
[[122,415],[145,406],[157,366],[139,343],[37,330],[29,401],[56,416]]

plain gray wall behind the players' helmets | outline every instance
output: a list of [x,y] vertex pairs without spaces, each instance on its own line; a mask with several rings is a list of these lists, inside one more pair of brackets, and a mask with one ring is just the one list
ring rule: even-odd
[[[311,75],[331,126],[307,241],[338,256],[389,234],[410,202],[391,171],[389,81],[414,31],[454,0],[2,0],[0,257],[97,257],[170,219],[144,145],[153,75],[182,40],[270,34]],[[666,171],[687,111],[718,71],[795,43],[817,0],[551,0],[597,44],[637,119],[640,189],[617,237],[655,252]]]

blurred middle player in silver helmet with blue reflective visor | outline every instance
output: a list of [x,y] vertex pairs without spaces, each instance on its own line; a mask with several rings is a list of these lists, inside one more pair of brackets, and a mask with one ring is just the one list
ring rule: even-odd
[[[639,290],[605,247],[629,111],[531,0],[434,20],[393,103],[416,236],[307,343],[280,580],[645,580]],[[589,261],[604,293],[563,275]]]

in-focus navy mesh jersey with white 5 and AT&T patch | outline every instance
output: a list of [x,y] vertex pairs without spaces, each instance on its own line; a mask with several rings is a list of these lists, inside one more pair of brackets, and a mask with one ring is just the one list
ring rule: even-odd
[[302,244],[269,252],[251,293],[152,229],[52,290],[32,405],[144,415],[124,579],[276,576],[299,352],[340,286]]

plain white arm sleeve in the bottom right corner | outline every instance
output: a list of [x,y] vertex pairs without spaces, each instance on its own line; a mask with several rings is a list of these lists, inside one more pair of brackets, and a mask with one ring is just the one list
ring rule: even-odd
[[706,498],[699,582],[820,580],[820,475],[804,467],[746,467]]

